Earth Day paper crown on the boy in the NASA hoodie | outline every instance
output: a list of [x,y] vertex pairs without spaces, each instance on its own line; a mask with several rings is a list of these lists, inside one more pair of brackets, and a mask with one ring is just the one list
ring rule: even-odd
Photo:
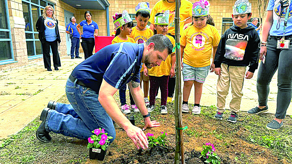
[[252,4],[248,0],[237,0],[232,9],[233,15],[247,14],[252,12]]

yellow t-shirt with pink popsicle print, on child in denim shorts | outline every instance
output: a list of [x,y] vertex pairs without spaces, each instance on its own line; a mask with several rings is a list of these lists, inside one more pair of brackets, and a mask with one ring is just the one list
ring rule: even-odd
[[201,29],[194,25],[189,26],[182,32],[180,45],[185,46],[183,50],[183,63],[192,67],[209,66],[212,46],[219,45],[220,36],[218,30],[209,24]]

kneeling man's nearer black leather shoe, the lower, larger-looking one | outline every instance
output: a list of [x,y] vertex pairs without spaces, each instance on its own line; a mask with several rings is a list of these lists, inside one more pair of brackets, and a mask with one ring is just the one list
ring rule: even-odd
[[49,132],[46,131],[45,123],[48,116],[48,111],[50,108],[44,108],[42,114],[40,115],[40,120],[43,121],[40,123],[40,126],[36,130],[36,138],[41,142],[50,142],[52,137],[49,135]]

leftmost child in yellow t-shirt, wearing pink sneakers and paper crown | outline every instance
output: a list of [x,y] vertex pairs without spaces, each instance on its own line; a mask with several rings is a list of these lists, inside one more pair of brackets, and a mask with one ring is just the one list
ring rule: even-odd
[[[128,35],[130,35],[132,32],[133,21],[130,21],[130,22],[124,21],[124,20],[132,20],[131,18],[129,19],[127,16],[128,16],[128,14],[127,14],[126,10],[124,10],[122,14],[116,13],[116,15],[113,16],[114,25],[116,27],[116,37],[113,38],[112,44],[121,43],[121,42],[135,43],[134,39],[128,37]],[[127,90],[127,85],[123,85],[119,89],[121,110],[122,110],[123,114],[131,113],[130,108],[134,112],[138,112],[139,109],[135,105],[135,102],[134,102],[134,99],[131,95],[131,92],[130,92],[131,107],[129,105],[127,105],[127,103],[126,103],[126,90]],[[130,88],[129,88],[129,90],[130,90]]]

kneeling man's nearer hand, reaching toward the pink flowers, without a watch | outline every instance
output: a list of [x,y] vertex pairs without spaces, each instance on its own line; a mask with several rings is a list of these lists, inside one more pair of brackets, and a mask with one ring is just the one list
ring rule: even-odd
[[148,148],[148,140],[144,132],[142,131],[141,128],[138,128],[137,126],[131,125],[129,128],[125,129],[127,132],[127,135],[131,140],[134,142],[134,145],[137,147],[137,149],[142,149]]

